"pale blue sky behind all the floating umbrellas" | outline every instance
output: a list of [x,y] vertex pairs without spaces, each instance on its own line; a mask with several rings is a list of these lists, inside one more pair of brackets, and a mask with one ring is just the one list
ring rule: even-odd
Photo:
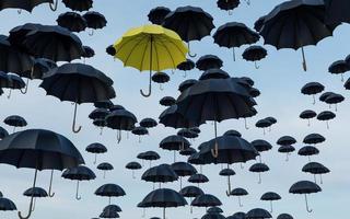
[[[140,95],[139,89],[147,88],[148,73],[139,72],[132,68],[124,68],[122,62],[114,60],[105,53],[105,48],[119,38],[122,33],[131,27],[148,24],[148,12],[158,5],[176,9],[182,5],[201,7],[214,18],[214,25],[219,27],[226,22],[243,22],[247,26],[253,27],[254,22],[261,15],[267,14],[273,7],[281,1],[257,1],[252,0],[250,5],[246,5],[242,1],[238,9],[235,9],[233,15],[221,11],[217,8],[215,1],[200,0],[98,0],[94,2],[94,11],[103,13],[108,23],[102,31],[96,31],[93,36],[89,36],[89,32],[78,34],[84,45],[95,49],[95,57],[88,59],[86,64],[105,72],[114,80],[114,89],[117,97],[113,100],[115,104],[121,104],[132,112],[139,120],[144,117],[158,118],[164,106],[159,104],[159,100],[165,95],[178,96],[178,84],[185,80],[183,73],[171,71],[170,83],[164,85],[164,90],[154,85],[153,94],[149,99]],[[8,32],[16,26],[27,22],[56,24],[57,16],[68,11],[62,3],[59,9],[51,12],[48,5],[36,8],[33,13],[22,12],[18,14],[16,10],[4,10],[0,12],[0,34],[7,35]],[[212,32],[212,34],[214,31]],[[329,110],[325,103],[317,102],[312,104],[312,97],[301,94],[301,88],[311,81],[323,83],[325,91],[341,93],[346,99],[349,97],[348,91],[343,88],[340,76],[334,76],[328,72],[328,66],[339,59],[343,59],[349,50],[348,43],[350,36],[350,27],[348,24],[338,26],[332,37],[322,41],[316,47],[305,47],[305,55],[308,64],[308,71],[302,70],[301,51],[292,49],[276,50],[271,46],[265,46],[268,49],[266,59],[259,62],[260,68],[255,69],[253,62],[242,59],[241,54],[247,46],[236,49],[237,60],[232,60],[232,51],[225,48],[219,48],[213,44],[213,38],[208,36],[200,42],[191,44],[191,50],[200,56],[213,54],[223,60],[223,70],[228,71],[232,77],[250,77],[255,80],[255,87],[261,91],[261,95],[256,99],[258,105],[258,115],[248,119],[249,129],[244,128],[242,119],[230,119],[219,124],[219,134],[223,134],[228,129],[240,130],[248,141],[255,139],[268,140],[272,146],[272,150],[264,153],[262,159],[269,165],[270,171],[262,174],[262,184],[258,184],[257,174],[250,173],[248,168],[255,161],[250,161],[241,169],[233,165],[236,175],[232,177],[232,187],[244,187],[249,195],[243,198],[244,207],[238,207],[235,197],[226,197],[226,178],[219,176],[220,165],[203,166],[203,173],[210,178],[208,184],[201,185],[201,188],[209,194],[215,195],[223,203],[225,216],[233,215],[236,211],[248,211],[253,208],[269,209],[269,203],[261,201],[260,196],[266,192],[277,192],[282,199],[275,203],[276,218],[279,214],[291,214],[294,218],[308,219],[327,219],[335,216],[347,217],[347,207],[349,201],[349,154],[347,153],[347,126],[350,119],[348,111],[350,103],[346,100],[339,104],[338,111],[335,112],[337,117],[330,122],[330,128],[327,129],[326,124],[316,119],[312,120],[308,127],[305,120],[299,118],[299,114],[304,110],[314,110],[316,112]],[[264,41],[257,43],[264,45]],[[82,62],[77,60],[75,62]],[[189,78],[197,79],[200,71],[194,70],[188,72]],[[346,76],[347,79],[347,76]],[[80,201],[74,199],[75,182],[60,178],[59,172],[55,173],[54,198],[45,198],[37,200],[36,210],[32,218],[51,219],[61,218],[93,218],[97,217],[102,209],[108,204],[107,198],[94,195],[97,187],[105,183],[115,183],[120,185],[127,193],[126,196],[113,198],[113,203],[122,208],[121,218],[141,218],[142,210],[137,208],[137,204],[152,191],[152,184],[140,181],[141,174],[147,169],[138,171],[137,180],[133,180],[131,172],[125,169],[130,161],[137,161],[136,155],[139,152],[148,150],[156,150],[161,154],[161,160],[154,164],[172,163],[173,153],[159,149],[159,142],[168,135],[176,134],[172,128],[164,128],[159,125],[156,128],[150,129],[150,136],[142,138],[141,143],[138,137],[129,135],[126,138],[124,134],[122,141],[117,143],[116,131],[105,130],[101,136],[98,129],[92,125],[88,118],[90,112],[94,110],[92,104],[82,104],[78,110],[78,124],[82,125],[79,134],[71,132],[71,122],[73,106],[68,102],[60,102],[56,97],[46,96],[45,91],[38,88],[39,81],[31,81],[28,93],[23,95],[19,91],[12,92],[12,97],[8,100],[4,95],[0,96],[0,126],[7,128],[10,132],[12,129],[4,125],[2,120],[9,115],[23,116],[28,126],[25,128],[44,128],[59,132],[69,138],[83,154],[86,165],[90,166],[97,175],[95,181],[82,182]],[[5,91],[8,92],[8,91]],[[335,111],[335,108],[331,108]],[[267,135],[261,129],[255,128],[254,124],[267,116],[273,116],[278,119],[277,125],[272,127]],[[200,142],[213,138],[213,127],[210,124],[202,125],[202,132],[199,138],[192,142],[192,147],[198,147]],[[22,129],[21,129],[22,130]],[[331,173],[324,176],[322,193],[310,196],[310,205],[313,208],[312,214],[307,214],[304,206],[304,197],[300,195],[289,194],[290,186],[302,180],[313,181],[313,176],[302,173],[301,169],[307,163],[307,159],[293,153],[289,162],[285,162],[284,154],[278,153],[276,141],[284,135],[296,138],[296,149],[304,145],[303,138],[312,132],[318,132],[326,137],[326,141],[318,146],[320,154],[313,158],[313,161],[320,162],[330,169]],[[107,173],[107,177],[103,178],[103,173],[96,170],[93,164],[93,154],[85,152],[85,147],[92,142],[101,142],[108,148],[106,154],[98,155],[97,162],[110,162],[115,170]],[[177,155],[177,161],[185,161],[185,158]],[[7,164],[0,164],[0,191],[5,197],[11,198],[16,204],[19,210],[27,210],[30,198],[22,194],[32,186],[34,170],[15,169]],[[43,171],[38,174],[38,186],[48,188],[49,171]],[[179,183],[165,184],[168,187],[178,191]],[[205,214],[205,209],[195,208],[194,214],[189,214],[189,207],[167,209],[167,218],[200,218]],[[148,209],[145,218],[161,217],[162,209]],[[0,218],[14,219],[16,212],[0,212]]]

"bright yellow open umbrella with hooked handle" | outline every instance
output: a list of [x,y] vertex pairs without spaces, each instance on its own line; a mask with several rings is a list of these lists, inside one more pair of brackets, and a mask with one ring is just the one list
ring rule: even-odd
[[160,25],[131,28],[115,43],[114,48],[115,57],[120,59],[124,66],[150,71],[148,94],[140,90],[143,96],[151,95],[152,71],[175,69],[186,60],[188,53],[187,46],[175,32]]

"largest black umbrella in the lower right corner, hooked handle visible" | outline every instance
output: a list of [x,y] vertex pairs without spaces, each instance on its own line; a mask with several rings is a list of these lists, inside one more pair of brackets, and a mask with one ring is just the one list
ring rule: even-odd
[[322,192],[322,188],[316,183],[313,183],[310,181],[296,182],[289,189],[289,193],[292,193],[292,194],[304,194],[307,212],[313,211],[312,209],[308,208],[307,194],[318,193],[318,192]]

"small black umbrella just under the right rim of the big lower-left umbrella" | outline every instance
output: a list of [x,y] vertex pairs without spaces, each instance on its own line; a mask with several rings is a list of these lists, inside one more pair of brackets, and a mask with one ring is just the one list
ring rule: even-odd
[[95,180],[96,175],[95,173],[90,170],[88,166],[79,165],[74,168],[67,169],[62,173],[63,178],[68,178],[71,181],[77,181],[77,192],[75,192],[75,199],[80,200],[81,196],[79,195],[79,182],[80,181],[91,181]]

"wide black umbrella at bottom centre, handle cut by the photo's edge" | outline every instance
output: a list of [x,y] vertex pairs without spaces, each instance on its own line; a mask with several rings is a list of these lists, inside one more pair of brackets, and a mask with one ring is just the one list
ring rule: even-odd
[[172,207],[186,206],[187,201],[176,191],[170,188],[160,188],[148,194],[138,207],[140,208],[163,208],[163,219],[165,219],[165,209]]

